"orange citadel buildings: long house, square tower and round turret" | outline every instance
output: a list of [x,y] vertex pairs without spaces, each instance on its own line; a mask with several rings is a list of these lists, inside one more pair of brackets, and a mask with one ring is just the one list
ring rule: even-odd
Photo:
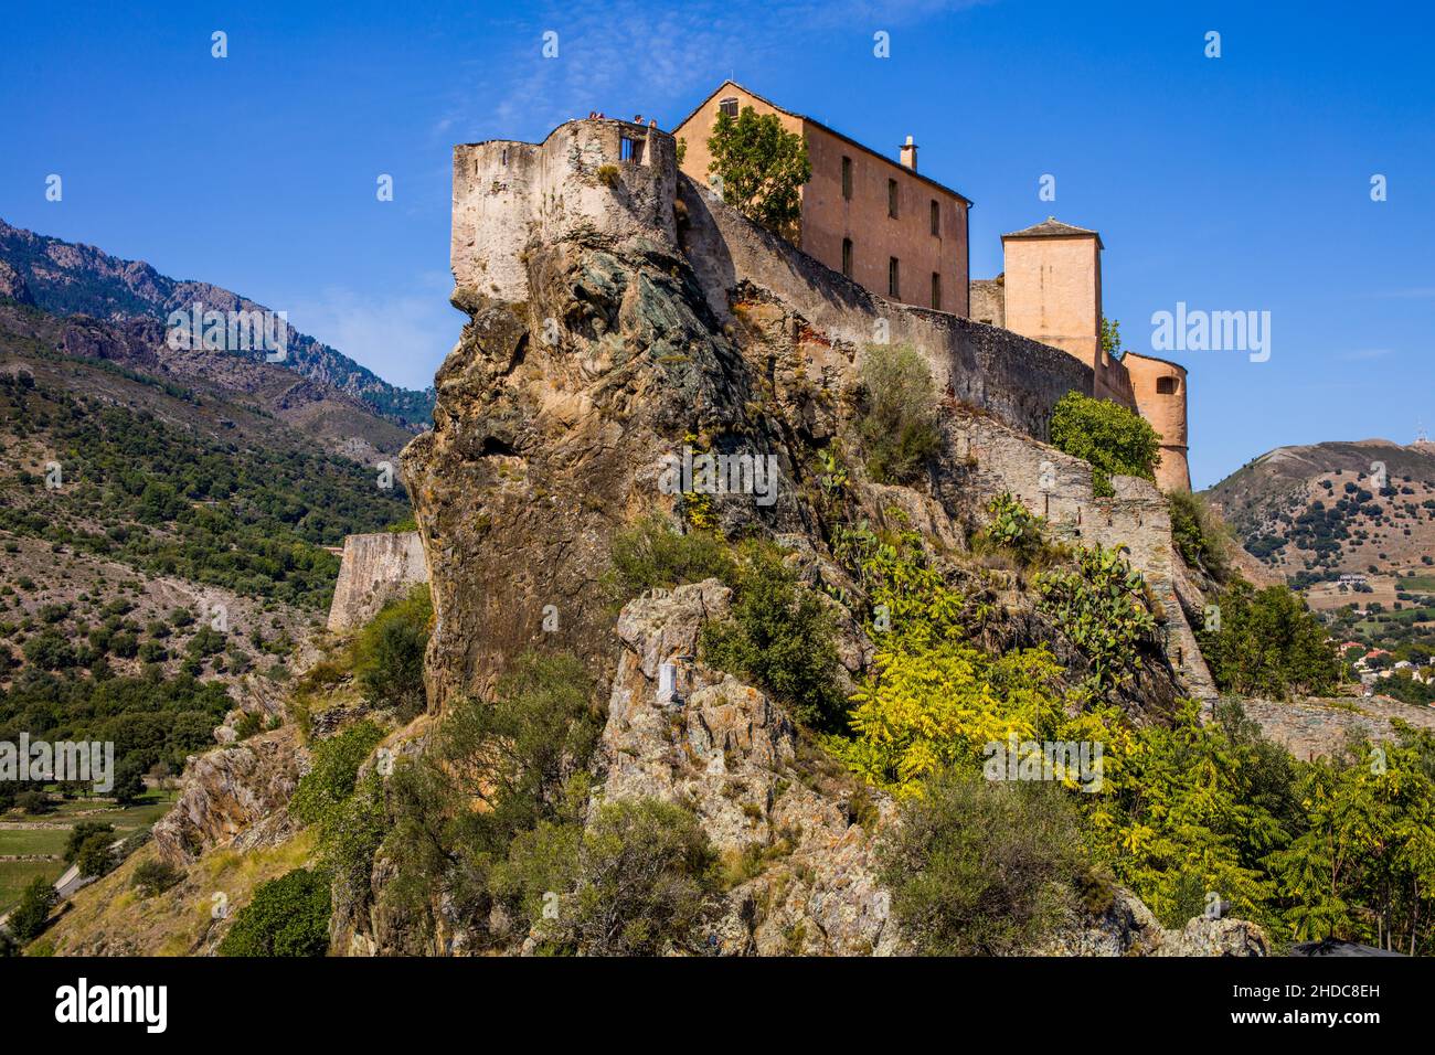
[[1086,363],[1093,396],[1139,412],[1161,433],[1157,484],[1191,488],[1185,369],[1135,352],[1116,359],[1101,346],[1101,234],[1048,217],[1002,235],[1002,276],[971,281],[971,201],[917,171],[911,136],[894,161],[732,80],[673,129],[683,172],[709,182],[718,115],[736,118],[746,106],[775,113],[806,144],[802,251],[878,296],[1000,326]]

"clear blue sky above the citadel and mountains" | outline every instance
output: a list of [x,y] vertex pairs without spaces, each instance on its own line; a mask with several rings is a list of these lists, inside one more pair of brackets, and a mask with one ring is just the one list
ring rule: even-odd
[[914,135],[923,171],[976,201],[973,277],[1000,270],[1003,231],[1050,214],[1099,230],[1128,347],[1149,352],[1177,301],[1270,311],[1269,362],[1174,356],[1197,487],[1283,444],[1435,432],[1421,4],[571,7],[7,0],[0,217],[234,289],[423,386],[462,322],[451,145],[541,139],[593,109],[670,128],[733,76],[877,149]]

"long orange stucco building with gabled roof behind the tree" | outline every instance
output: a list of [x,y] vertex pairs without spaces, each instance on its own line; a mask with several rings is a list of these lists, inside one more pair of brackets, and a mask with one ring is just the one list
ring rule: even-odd
[[738,116],[745,106],[778,115],[806,144],[812,178],[801,191],[804,253],[880,296],[967,314],[971,202],[917,171],[911,136],[893,161],[726,80],[673,129],[684,151],[683,172],[707,182],[707,139],[718,115]]

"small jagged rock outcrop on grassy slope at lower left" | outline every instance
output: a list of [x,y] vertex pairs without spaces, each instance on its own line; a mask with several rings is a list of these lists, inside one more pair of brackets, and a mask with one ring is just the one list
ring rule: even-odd
[[293,725],[191,758],[178,801],[152,831],[159,854],[185,866],[231,843],[284,841],[294,833],[284,808],[306,759]]

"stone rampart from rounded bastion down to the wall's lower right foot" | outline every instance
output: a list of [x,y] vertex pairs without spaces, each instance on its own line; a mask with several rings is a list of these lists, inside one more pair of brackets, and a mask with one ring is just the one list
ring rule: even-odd
[[[679,174],[673,139],[656,128],[588,119],[561,125],[537,145],[455,149],[452,266],[461,291],[527,303],[527,247],[573,237],[686,258],[722,323],[733,322],[735,306],[768,297],[854,359],[877,343],[920,350],[956,403],[957,442],[967,448],[957,454],[974,459],[979,497],[1010,491],[1058,537],[1126,547],[1164,609],[1164,644],[1182,688],[1214,698],[1182,614],[1190,587],[1159,491],[1116,478],[1115,498],[1096,498],[1091,466],[1042,442],[1056,400],[1069,390],[1095,393],[1092,366],[997,326],[872,294]],[[1185,600],[1200,607],[1198,597]]]

